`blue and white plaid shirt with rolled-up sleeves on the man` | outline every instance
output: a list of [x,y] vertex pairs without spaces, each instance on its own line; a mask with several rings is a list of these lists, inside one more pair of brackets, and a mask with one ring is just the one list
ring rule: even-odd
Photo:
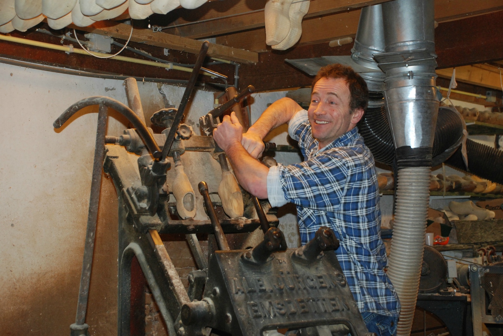
[[288,126],[304,162],[271,167],[267,191],[272,206],[297,205],[302,245],[328,226],[341,245],[337,259],[360,312],[398,316],[400,303],[384,272],[386,249],[380,237],[381,211],[374,157],[358,129],[318,150],[307,111]]

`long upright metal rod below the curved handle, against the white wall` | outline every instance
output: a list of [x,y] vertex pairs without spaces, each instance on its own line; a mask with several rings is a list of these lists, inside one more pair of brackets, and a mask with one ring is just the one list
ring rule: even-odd
[[96,132],[95,157],[93,163],[93,180],[91,182],[91,195],[89,197],[88,228],[86,231],[86,244],[80,274],[80,288],[78,290],[77,314],[75,324],[86,321],[88,307],[89,282],[93,265],[93,252],[96,236],[96,223],[98,221],[98,206],[100,203],[101,172],[105,155],[105,133],[107,130],[108,107],[100,104],[98,113],[98,129]]

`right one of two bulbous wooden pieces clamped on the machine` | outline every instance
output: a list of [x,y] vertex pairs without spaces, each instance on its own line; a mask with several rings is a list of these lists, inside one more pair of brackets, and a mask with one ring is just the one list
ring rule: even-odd
[[242,217],[244,212],[243,195],[236,178],[230,171],[222,172],[218,195],[222,200],[223,210],[230,218]]

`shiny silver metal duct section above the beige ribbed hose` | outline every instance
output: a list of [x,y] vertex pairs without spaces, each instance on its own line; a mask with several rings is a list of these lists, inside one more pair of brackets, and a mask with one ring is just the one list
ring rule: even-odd
[[382,4],[384,99],[398,167],[430,166],[439,101],[435,86],[433,0]]

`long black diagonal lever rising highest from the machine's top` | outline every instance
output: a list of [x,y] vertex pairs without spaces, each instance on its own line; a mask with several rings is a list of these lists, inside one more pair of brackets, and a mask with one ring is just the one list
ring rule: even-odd
[[199,75],[199,70],[201,70],[201,66],[203,64],[204,58],[206,57],[206,53],[208,52],[209,42],[204,41],[201,50],[199,51],[199,55],[197,56],[196,65],[194,65],[194,69],[190,75],[189,84],[185,88],[184,95],[182,96],[182,100],[180,101],[180,105],[178,106],[177,114],[175,115],[175,119],[173,121],[173,126],[170,129],[170,133],[166,137],[166,142],[164,143],[164,147],[162,148],[162,155],[160,161],[164,161],[167,156],[167,153],[170,152],[171,145],[173,144],[173,140],[175,139],[175,133],[178,130],[178,125],[182,121],[184,116],[185,107],[189,102],[189,98],[194,90],[194,85],[196,84],[197,76]]

